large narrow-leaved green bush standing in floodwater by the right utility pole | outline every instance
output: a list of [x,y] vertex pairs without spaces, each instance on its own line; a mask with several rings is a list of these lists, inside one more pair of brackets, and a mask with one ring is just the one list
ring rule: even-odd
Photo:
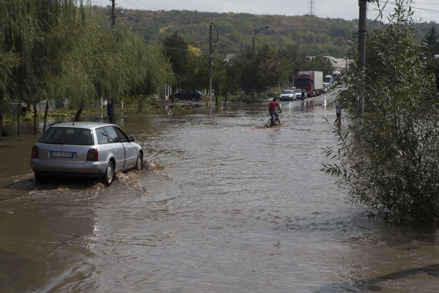
[[360,92],[358,64],[343,79],[354,85],[338,97],[348,106],[349,126],[334,129],[339,148],[326,156],[339,162],[322,170],[349,187],[351,202],[367,206],[370,218],[432,222],[439,212],[438,101],[431,99],[434,76],[412,42],[412,12],[402,4],[397,1],[390,25],[367,39],[364,117],[353,100]]

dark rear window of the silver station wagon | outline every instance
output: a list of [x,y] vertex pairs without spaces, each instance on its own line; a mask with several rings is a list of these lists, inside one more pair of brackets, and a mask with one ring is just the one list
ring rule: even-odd
[[49,127],[38,142],[42,144],[92,146],[93,136],[91,130],[86,128]]

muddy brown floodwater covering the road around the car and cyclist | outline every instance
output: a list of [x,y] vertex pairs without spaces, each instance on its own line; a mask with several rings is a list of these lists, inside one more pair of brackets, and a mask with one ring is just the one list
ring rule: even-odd
[[40,134],[1,138],[0,292],[438,292],[437,229],[361,217],[319,171],[335,107],[267,107],[118,121],[150,164],[110,187],[35,185]]

